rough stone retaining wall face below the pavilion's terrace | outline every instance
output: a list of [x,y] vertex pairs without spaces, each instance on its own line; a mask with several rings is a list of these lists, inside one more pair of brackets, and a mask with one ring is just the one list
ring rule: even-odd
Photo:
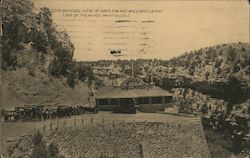
[[210,157],[198,124],[116,123],[47,133],[69,157]]

